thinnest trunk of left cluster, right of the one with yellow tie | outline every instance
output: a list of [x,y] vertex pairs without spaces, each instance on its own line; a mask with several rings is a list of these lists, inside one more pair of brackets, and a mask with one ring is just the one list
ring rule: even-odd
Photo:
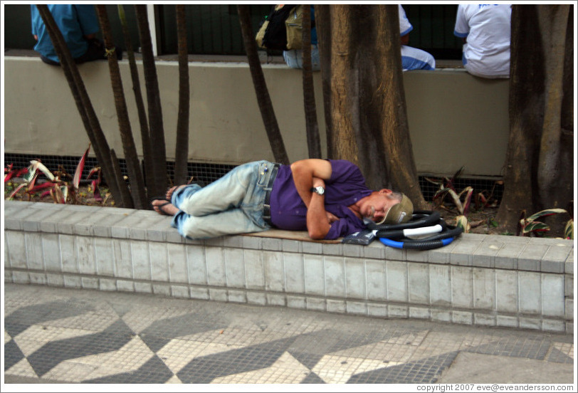
[[130,68],[130,77],[132,79],[132,91],[135,93],[135,103],[137,105],[137,114],[140,125],[140,138],[142,145],[142,161],[144,166],[144,181],[145,183],[152,177],[152,153],[150,145],[149,124],[147,120],[147,111],[144,108],[144,101],[142,100],[142,92],[140,90],[139,71],[137,70],[137,62],[135,61],[135,51],[132,48],[132,41],[130,40],[130,33],[128,31],[127,19],[125,17],[125,8],[122,4],[118,4],[118,16],[122,26],[122,36],[125,38],[125,47],[127,48],[127,58]]

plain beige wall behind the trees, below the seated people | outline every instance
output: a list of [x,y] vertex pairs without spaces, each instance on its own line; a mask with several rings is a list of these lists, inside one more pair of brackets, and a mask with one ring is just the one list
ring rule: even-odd
[[[139,63],[140,66],[140,63]],[[124,157],[106,62],[79,66],[110,147]],[[120,62],[132,132],[140,130],[127,61]],[[189,158],[240,164],[273,159],[247,63],[189,63]],[[142,68],[141,89],[146,105]],[[300,70],[263,64],[289,159],[307,157]],[[157,61],[167,158],[174,158],[178,114],[178,63]],[[320,73],[314,73],[317,120],[325,154]],[[411,142],[418,172],[501,174],[508,143],[508,80],[483,80],[463,70],[404,73]],[[80,156],[88,146],[83,123],[61,68],[38,58],[4,58],[5,151]]]

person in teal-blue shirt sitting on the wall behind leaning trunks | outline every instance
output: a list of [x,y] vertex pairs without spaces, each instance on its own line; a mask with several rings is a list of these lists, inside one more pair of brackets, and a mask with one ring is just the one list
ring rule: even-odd
[[[48,4],[54,21],[61,29],[64,41],[70,49],[75,63],[104,60],[105,46],[96,38],[100,30],[95,8],[92,4]],[[52,44],[48,29],[35,5],[31,5],[32,35],[36,39],[34,50],[41,60],[51,66],[60,66],[60,59]],[[117,50],[117,58],[122,51]]]

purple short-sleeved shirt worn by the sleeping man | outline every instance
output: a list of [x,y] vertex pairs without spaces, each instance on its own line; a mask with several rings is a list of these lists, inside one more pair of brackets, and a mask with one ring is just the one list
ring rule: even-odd
[[[363,221],[347,207],[372,193],[359,168],[345,159],[329,159],[331,178],[325,180],[325,210],[339,217],[325,239],[337,239],[365,228]],[[278,229],[307,231],[307,206],[299,196],[291,168],[281,165],[270,197],[271,221]]]

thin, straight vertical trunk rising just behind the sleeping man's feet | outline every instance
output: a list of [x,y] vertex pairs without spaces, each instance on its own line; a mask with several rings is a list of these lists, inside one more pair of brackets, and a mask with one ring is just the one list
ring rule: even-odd
[[184,5],[177,11],[177,38],[179,47],[179,117],[177,118],[177,145],[174,149],[174,184],[186,183],[189,174],[189,52],[186,46],[186,19]]

